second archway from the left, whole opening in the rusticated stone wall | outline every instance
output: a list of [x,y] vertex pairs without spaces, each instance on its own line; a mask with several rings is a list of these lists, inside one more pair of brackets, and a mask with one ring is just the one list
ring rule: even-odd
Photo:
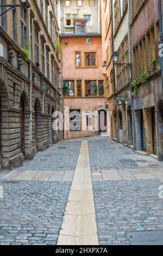
[[30,106],[26,92],[20,97],[20,141],[23,159],[31,159],[30,149]]

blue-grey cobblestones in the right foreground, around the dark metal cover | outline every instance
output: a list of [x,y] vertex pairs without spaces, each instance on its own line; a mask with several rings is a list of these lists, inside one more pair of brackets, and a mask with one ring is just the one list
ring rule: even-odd
[[163,230],[158,180],[93,182],[99,245],[129,245],[127,231]]

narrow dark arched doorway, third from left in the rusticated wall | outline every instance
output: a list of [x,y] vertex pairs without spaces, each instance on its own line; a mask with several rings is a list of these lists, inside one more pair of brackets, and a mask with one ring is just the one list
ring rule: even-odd
[[34,147],[36,153],[38,151],[38,142],[40,140],[40,129],[41,129],[41,105],[38,98],[35,100],[34,106]]

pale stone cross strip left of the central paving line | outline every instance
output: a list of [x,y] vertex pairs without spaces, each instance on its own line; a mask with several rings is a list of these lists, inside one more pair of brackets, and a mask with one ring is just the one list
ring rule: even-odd
[[46,170],[12,170],[0,176],[1,180],[72,181],[74,172],[52,172]]

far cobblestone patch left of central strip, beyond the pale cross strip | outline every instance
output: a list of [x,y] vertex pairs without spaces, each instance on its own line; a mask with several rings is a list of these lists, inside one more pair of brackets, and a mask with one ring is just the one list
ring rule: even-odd
[[75,170],[82,139],[61,141],[53,147],[39,153],[33,161],[24,162],[17,170]]

